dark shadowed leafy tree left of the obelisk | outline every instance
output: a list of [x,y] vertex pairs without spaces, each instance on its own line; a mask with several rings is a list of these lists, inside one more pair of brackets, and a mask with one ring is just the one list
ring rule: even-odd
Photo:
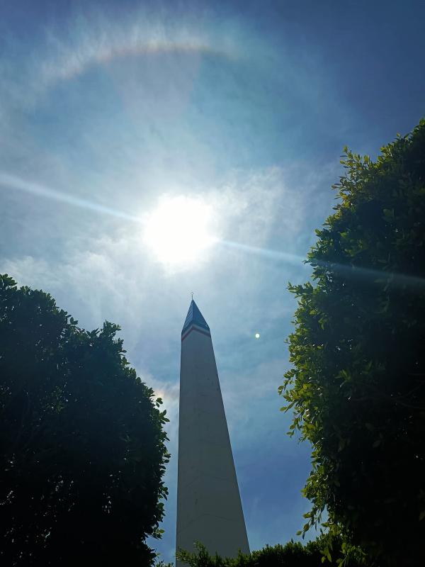
[[148,565],[168,459],[161,400],[117,325],[86,332],[0,276],[0,561]]

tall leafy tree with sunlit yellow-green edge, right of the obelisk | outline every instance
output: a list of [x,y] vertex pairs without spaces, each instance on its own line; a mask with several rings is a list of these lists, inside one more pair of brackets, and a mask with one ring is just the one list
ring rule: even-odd
[[425,120],[376,162],[345,149],[335,213],[308,255],[290,433],[312,442],[307,529],[327,508],[382,565],[425,563]]

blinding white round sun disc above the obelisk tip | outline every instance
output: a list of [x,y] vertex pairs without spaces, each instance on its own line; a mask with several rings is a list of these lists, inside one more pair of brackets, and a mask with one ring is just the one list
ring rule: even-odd
[[210,206],[199,199],[164,199],[147,218],[145,243],[164,264],[192,264],[214,242],[211,217]]

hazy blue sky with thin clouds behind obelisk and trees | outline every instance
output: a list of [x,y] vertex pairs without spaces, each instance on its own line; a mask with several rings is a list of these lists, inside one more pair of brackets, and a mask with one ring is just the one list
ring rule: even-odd
[[335,204],[344,145],[374,158],[425,115],[424,2],[0,9],[0,272],[82,327],[118,323],[164,399],[169,499],[151,544],[172,561],[191,292],[212,331],[250,547],[297,539],[310,447],[279,411],[287,285],[310,276],[302,259]]

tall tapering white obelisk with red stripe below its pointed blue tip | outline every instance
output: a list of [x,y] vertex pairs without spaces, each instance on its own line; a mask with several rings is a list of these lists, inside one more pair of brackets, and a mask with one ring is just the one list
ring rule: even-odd
[[210,327],[192,300],[181,332],[176,549],[195,541],[211,554],[249,553]]

